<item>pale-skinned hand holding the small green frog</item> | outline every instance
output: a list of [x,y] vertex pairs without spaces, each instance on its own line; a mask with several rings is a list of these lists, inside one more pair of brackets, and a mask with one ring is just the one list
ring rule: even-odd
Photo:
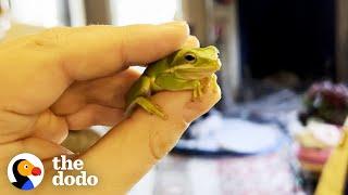
[[[27,152],[44,160],[46,171],[28,194],[125,194],[221,96],[215,80],[200,101],[192,102],[190,91],[159,92],[150,100],[166,120],[144,109],[122,120],[124,95],[140,76],[129,66],[198,44],[185,23],[55,28],[0,43],[1,193],[23,194],[10,184],[5,168],[13,156]],[[98,185],[53,187],[52,157],[74,155],[61,142],[69,130],[91,125],[113,126],[75,156],[98,176]]]

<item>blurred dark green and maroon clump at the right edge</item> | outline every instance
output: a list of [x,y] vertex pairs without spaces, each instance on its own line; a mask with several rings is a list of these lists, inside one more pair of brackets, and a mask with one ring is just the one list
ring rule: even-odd
[[348,115],[348,89],[343,83],[314,83],[306,92],[303,102],[306,109],[300,114],[303,123],[309,118],[320,118],[325,122],[343,126]]

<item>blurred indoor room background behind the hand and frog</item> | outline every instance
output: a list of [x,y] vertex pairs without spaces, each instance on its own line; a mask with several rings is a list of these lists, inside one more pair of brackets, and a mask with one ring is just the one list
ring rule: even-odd
[[[347,10],[345,0],[0,0],[0,37],[187,21],[221,52],[223,98],[130,194],[313,194],[348,114]],[[83,152],[108,129],[64,144]]]

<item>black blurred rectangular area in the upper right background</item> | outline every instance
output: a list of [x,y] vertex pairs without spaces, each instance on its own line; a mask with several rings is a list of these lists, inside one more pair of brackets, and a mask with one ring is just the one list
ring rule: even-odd
[[239,1],[243,68],[258,79],[335,78],[335,12],[332,0]]

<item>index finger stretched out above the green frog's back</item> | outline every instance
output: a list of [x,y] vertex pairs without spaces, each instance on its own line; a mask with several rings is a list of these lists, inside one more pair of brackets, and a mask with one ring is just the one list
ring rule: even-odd
[[34,38],[35,44],[57,48],[70,78],[87,80],[128,65],[146,64],[179,49],[188,38],[185,22],[163,25],[107,25],[53,28]]

